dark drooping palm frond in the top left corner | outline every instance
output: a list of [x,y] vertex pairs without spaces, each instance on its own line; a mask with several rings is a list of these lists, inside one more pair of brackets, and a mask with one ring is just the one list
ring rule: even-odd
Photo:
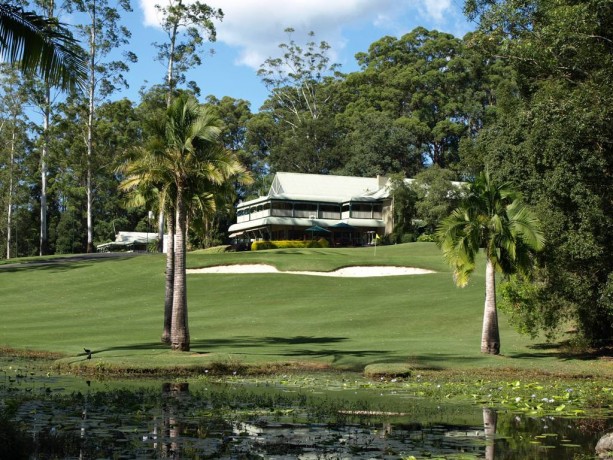
[[64,90],[84,86],[85,54],[68,29],[6,2],[0,3],[0,57]]

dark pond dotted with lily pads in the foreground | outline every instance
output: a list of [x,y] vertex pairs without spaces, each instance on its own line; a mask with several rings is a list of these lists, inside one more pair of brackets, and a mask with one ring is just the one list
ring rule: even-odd
[[610,414],[495,410],[342,375],[299,380],[88,381],[0,359],[0,458],[588,459],[613,431]]

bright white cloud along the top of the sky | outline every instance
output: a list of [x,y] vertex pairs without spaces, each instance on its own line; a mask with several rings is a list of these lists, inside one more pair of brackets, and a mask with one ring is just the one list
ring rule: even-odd
[[[157,26],[154,5],[160,0],[140,0],[145,25]],[[287,42],[285,28],[296,30],[303,43],[314,31],[316,41],[325,40],[333,52],[347,42],[347,27],[374,27],[379,36],[412,29],[407,20],[421,16],[426,22],[440,22],[450,9],[450,0],[204,0],[224,12],[217,25],[217,40],[238,49],[237,64],[258,68],[269,56],[278,55],[278,45]],[[404,23],[404,24],[403,24]],[[336,56],[332,55],[335,59]]]

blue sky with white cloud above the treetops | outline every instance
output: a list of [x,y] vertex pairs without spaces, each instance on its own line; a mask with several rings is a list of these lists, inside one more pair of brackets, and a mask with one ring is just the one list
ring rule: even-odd
[[[130,89],[118,96],[138,101],[138,90],[161,83],[162,64],[154,60],[153,42],[164,42],[156,3],[164,0],[132,0],[133,12],[124,13],[132,32],[130,50],[139,58],[128,75]],[[462,37],[473,30],[462,15],[462,0],[204,0],[221,8],[224,19],[216,23],[214,50],[201,66],[188,74],[197,82],[204,99],[209,94],[251,102],[257,112],[268,91],[257,76],[268,57],[280,55],[279,44],[289,41],[284,30],[295,29],[292,39],[304,44],[308,33],[315,41],[331,45],[331,61],[341,71],[358,70],[355,54],[386,36],[400,37],[423,26]]]

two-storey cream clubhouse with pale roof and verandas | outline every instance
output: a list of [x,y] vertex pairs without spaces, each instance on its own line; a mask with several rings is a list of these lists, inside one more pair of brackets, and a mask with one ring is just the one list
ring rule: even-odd
[[372,244],[392,228],[387,177],[278,172],[266,196],[238,205],[229,233],[245,242],[323,237],[350,246]]

